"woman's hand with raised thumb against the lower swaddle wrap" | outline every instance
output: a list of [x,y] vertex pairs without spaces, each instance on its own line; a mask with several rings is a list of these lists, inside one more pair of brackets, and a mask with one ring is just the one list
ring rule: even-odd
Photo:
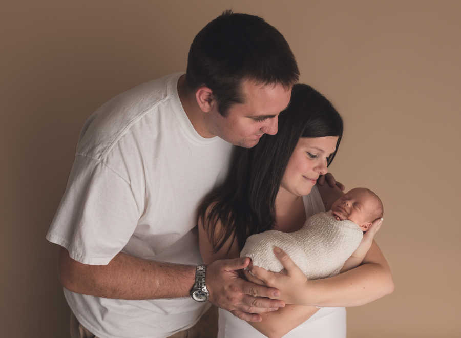
[[282,263],[284,270],[272,272],[257,266],[249,266],[248,270],[251,273],[246,270],[246,278],[254,283],[277,288],[280,296],[273,297],[274,299],[281,299],[287,304],[308,305],[309,301],[305,299],[306,292],[303,292],[303,289],[306,289],[309,280],[283,250],[274,247],[274,254]]

